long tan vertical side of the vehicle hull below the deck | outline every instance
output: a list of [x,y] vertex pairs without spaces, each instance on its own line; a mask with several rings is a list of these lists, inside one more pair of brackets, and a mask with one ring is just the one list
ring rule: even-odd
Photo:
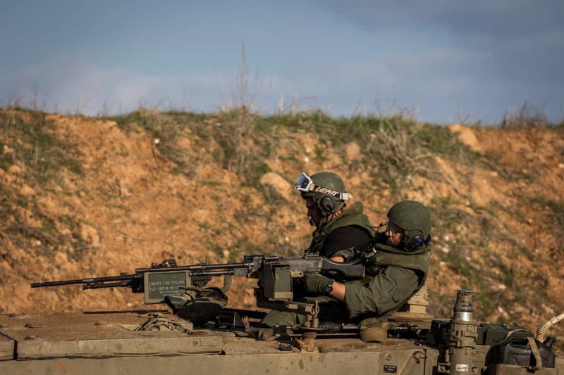
[[[107,359],[57,359],[0,362],[1,374],[352,374],[416,375],[425,372],[424,362],[398,364],[399,358],[386,361],[385,355],[371,352],[354,355],[345,352],[319,355],[190,355],[176,357],[111,357]],[[386,372],[387,371],[387,372]]]

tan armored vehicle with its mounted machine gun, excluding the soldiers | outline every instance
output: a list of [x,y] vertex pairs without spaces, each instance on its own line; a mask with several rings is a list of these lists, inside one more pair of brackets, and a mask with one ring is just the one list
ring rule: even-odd
[[[348,266],[348,274],[358,271]],[[338,267],[315,256],[257,255],[223,265],[177,266],[166,260],[135,274],[35,283],[33,287],[129,286],[144,293],[147,305],[164,305],[153,310],[1,315],[0,374],[564,374],[564,359],[553,353],[554,340],[546,336],[564,314],[536,333],[479,323],[473,316],[472,292],[457,291],[452,317],[437,319],[427,314],[423,287],[381,327],[331,325],[319,322],[314,303],[296,302],[291,295],[293,277],[328,268],[334,272]],[[206,298],[210,290],[221,295],[231,275],[243,274],[259,279],[257,306],[300,311],[310,317],[307,324],[276,327],[264,335],[259,327],[264,312],[230,309]],[[223,288],[203,287],[207,278],[219,275],[226,275]],[[196,292],[189,304],[195,314],[178,309],[183,295],[178,289]],[[205,319],[197,314],[201,311],[207,312]]]

